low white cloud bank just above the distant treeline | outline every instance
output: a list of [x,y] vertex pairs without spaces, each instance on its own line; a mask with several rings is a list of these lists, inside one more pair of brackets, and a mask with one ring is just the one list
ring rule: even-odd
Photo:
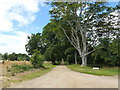
[[15,35],[0,35],[0,53],[27,53],[25,45],[27,44],[27,35],[21,31],[14,31]]

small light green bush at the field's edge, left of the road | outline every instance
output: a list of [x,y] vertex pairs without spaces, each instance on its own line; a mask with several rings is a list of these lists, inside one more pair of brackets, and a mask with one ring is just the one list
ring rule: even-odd
[[40,54],[40,51],[37,49],[34,50],[34,53],[31,57],[31,64],[34,68],[43,67],[44,56]]

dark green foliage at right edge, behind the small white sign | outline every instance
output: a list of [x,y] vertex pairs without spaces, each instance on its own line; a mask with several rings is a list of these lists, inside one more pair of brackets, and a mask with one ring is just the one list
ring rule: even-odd
[[94,64],[103,64],[107,66],[118,66],[119,62],[119,41],[114,39],[108,41],[107,38],[101,40],[101,43],[95,48],[96,51],[92,54],[94,57]]

